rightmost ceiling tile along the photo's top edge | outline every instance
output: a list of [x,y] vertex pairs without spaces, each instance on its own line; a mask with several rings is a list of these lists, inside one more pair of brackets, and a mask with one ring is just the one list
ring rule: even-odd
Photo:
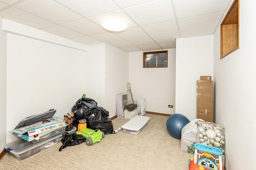
[[173,0],[177,18],[224,11],[230,0]]

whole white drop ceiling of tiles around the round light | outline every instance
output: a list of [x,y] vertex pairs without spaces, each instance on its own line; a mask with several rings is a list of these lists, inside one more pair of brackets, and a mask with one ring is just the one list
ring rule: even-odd
[[[212,35],[233,0],[0,0],[0,17],[84,44],[124,51],[176,48],[176,39]],[[102,28],[108,18],[128,28]]]

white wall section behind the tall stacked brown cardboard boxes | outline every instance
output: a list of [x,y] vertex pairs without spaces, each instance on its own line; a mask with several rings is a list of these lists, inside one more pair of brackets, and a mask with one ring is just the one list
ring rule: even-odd
[[213,75],[213,35],[176,39],[176,113],[196,119],[196,80]]

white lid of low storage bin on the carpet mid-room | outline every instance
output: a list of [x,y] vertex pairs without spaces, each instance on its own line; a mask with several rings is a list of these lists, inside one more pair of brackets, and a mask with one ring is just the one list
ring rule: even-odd
[[130,121],[122,125],[123,129],[129,129],[133,131],[139,131],[150,119],[146,116],[135,116]]

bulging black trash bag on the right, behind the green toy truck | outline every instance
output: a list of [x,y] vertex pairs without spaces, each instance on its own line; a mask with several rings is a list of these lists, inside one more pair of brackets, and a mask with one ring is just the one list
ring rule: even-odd
[[93,107],[88,113],[86,118],[88,119],[88,128],[93,130],[103,131],[105,135],[113,133],[113,124],[111,119],[108,117],[109,111],[102,107]]

